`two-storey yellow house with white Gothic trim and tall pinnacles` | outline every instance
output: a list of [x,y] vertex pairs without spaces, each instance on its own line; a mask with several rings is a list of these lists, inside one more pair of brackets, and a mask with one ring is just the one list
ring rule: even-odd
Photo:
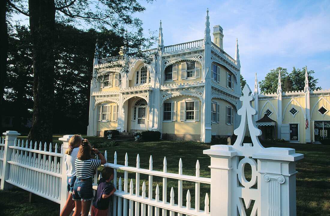
[[87,136],[155,130],[163,139],[210,142],[232,135],[241,96],[238,43],[232,58],[223,51],[221,26],[213,35],[215,43],[207,11],[201,40],[164,46],[160,23],[158,47],[143,51],[149,64],[127,55],[128,71],[121,71],[94,59]]

